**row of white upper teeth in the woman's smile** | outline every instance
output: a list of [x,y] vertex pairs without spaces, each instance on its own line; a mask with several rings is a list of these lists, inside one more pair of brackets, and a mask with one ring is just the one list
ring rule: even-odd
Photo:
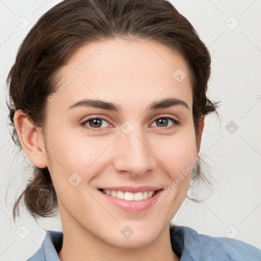
[[112,197],[116,197],[119,199],[124,199],[127,201],[141,201],[143,199],[151,198],[154,194],[155,191],[144,191],[144,192],[137,192],[137,193],[132,193],[132,192],[123,192],[121,190],[116,191],[116,190],[102,190],[103,193],[107,195],[111,195]]

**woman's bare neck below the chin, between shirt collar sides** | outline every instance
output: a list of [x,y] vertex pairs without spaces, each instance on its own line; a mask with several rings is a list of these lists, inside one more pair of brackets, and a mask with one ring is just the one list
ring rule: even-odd
[[74,219],[63,220],[63,246],[58,253],[61,261],[176,261],[179,257],[173,252],[170,242],[169,226],[152,244],[142,246],[137,243],[132,249],[117,247],[95,237]]

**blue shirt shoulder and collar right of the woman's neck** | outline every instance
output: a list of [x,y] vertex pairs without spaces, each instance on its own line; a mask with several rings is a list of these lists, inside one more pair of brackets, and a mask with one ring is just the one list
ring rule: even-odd
[[237,239],[199,234],[187,226],[171,226],[170,234],[172,240],[182,238],[180,261],[261,260],[260,249]]

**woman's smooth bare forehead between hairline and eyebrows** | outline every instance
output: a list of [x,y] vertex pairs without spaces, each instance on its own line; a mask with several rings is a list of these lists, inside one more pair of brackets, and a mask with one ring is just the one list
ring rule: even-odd
[[132,110],[168,97],[192,104],[185,60],[155,42],[111,39],[86,44],[58,75],[58,92],[50,106],[63,111],[83,98],[114,101]]

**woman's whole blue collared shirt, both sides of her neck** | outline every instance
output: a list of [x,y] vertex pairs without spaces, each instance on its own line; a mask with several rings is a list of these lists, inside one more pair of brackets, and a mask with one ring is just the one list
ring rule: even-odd
[[[173,251],[180,261],[261,260],[261,250],[243,241],[199,234],[187,226],[170,226]],[[63,244],[63,232],[48,230],[41,248],[27,261],[61,261],[58,252]]]

